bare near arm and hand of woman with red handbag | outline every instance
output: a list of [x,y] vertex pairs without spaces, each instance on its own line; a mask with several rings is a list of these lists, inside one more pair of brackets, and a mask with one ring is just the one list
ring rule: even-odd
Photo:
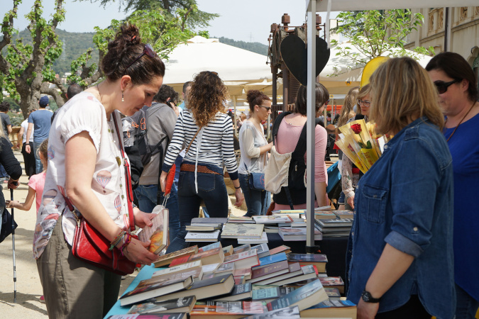
[[[97,160],[97,149],[87,131],[72,136],[65,145],[65,191],[72,203],[107,240],[113,241],[121,228],[110,218],[104,206],[92,191],[92,177]],[[117,245],[121,247],[123,241]],[[151,264],[158,256],[148,252],[150,242],[133,239],[125,255],[133,262]]]

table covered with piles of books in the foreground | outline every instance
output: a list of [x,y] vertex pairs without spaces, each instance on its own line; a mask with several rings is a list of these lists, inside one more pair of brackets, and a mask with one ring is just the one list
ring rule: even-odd
[[[105,318],[186,319],[187,313],[193,319],[285,315],[289,319],[356,318],[356,305],[341,297],[343,274],[333,276],[331,265],[326,269],[330,257],[324,254],[325,242],[346,241],[346,237],[323,238],[318,241],[323,253],[303,254],[292,250],[295,245],[289,244],[302,246],[304,251],[304,241],[286,242],[284,234],[278,233],[263,236],[265,224],[260,220],[235,223],[230,218],[224,225],[221,223],[220,229],[215,229],[220,223],[207,221],[204,224],[209,225],[203,227],[209,227],[208,232],[221,230],[221,237],[225,238],[202,242],[203,247],[191,245],[190,240],[190,247],[158,257],[154,264],[141,269]],[[202,227],[196,222],[192,220],[189,231]],[[239,238],[229,236],[250,236],[250,232],[259,229],[256,240],[242,237],[250,239],[250,243],[237,240],[236,245],[226,245]],[[256,244],[262,237],[268,243]]]

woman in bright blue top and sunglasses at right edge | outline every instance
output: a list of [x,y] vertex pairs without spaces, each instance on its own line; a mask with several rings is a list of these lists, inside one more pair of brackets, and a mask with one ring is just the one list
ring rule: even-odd
[[456,318],[475,318],[479,308],[479,216],[470,210],[470,201],[479,194],[478,82],[468,62],[453,52],[436,55],[426,70],[439,93],[446,118],[444,137],[453,158]]

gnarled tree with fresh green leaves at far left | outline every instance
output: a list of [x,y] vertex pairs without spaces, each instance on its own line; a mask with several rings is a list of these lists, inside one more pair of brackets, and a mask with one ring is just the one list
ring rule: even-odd
[[55,35],[55,28],[65,19],[65,9],[62,7],[63,0],[56,0],[52,19],[46,21],[42,16],[42,1],[35,0],[32,10],[26,15],[33,44],[23,43],[22,38],[13,43],[13,34],[18,33],[13,28],[13,20],[17,18],[21,0],[12,2],[13,9],[6,13],[1,24],[4,38],[0,41],[0,50],[6,48],[6,55],[0,55],[0,72],[5,74],[6,91],[19,101],[23,116],[26,116],[29,109],[38,105],[40,94],[49,94],[55,100],[60,98],[48,82],[55,79],[52,62],[62,53],[62,42]]

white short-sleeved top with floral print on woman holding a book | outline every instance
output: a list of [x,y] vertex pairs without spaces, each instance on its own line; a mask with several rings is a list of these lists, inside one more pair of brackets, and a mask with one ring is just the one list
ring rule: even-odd
[[[119,112],[114,111],[107,121],[104,106],[89,92],[77,94],[58,111],[50,129],[48,170],[33,235],[35,259],[45,250],[53,228],[62,214],[63,234],[65,240],[72,245],[77,222],[63,198],[66,196],[65,145],[70,138],[83,131],[89,133],[97,149],[92,191],[116,225],[124,230],[128,229],[125,171],[119,148],[123,147],[123,144],[118,139],[113,116],[116,116],[116,123],[121,125]],[[121,130],[121,126],[119,129]]]

